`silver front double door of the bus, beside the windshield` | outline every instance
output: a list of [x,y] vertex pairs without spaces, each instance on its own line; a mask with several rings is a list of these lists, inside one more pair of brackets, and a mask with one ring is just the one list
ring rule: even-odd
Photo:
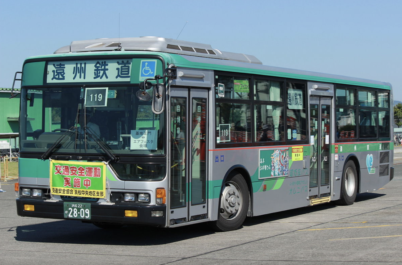
[[207,216],[206,89],[170,88],[169,225]]

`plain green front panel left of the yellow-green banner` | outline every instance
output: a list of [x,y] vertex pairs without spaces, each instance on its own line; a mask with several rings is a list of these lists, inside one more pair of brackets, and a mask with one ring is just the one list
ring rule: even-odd
[[20,177],[49,178],[49,160],[32,158],[18,159],[18,174]]

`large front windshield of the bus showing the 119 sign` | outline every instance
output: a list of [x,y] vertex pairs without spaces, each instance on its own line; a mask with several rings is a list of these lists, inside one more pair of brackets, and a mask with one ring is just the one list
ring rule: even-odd
[[123,156],[164,154],[163,118],[152,112],[152,101],[137,99],[138,90],[22,89],[21,151],[91,155],[104,154],[106,148]]

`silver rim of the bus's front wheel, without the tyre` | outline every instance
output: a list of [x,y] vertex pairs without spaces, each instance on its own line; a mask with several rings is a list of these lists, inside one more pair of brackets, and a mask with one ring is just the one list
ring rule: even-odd
[[243,196],[239,186],[232,181],[226,182],[221,198],[221,216],[226,220],[236,218],[242,209],[242,202]]

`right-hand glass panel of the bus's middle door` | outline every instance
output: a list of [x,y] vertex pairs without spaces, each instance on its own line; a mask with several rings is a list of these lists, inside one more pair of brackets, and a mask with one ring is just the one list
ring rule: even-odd
[[321,186],[329,185],[330,175],[330,105],[321,106]]

